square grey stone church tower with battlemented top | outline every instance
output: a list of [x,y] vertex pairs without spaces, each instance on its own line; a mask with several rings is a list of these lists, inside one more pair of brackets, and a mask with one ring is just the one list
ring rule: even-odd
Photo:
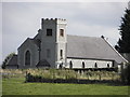
[[66,19],[41,19],[41,59],[52,68],[62,68],[66,64]]

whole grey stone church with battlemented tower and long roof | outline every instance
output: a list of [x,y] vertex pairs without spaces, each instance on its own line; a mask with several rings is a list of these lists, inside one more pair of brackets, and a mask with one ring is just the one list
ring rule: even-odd
[[66,26],[63,18],[42,18],[38,33],[21,44],[6,68],[115,68],[128,61],[103,36],[70,36]]

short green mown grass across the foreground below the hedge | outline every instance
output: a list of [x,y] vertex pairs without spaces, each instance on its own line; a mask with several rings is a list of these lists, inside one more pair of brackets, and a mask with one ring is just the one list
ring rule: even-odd
[[107,84],[24,83],[24,78],[2,80],[3,95],[128,95],[128,86]]

